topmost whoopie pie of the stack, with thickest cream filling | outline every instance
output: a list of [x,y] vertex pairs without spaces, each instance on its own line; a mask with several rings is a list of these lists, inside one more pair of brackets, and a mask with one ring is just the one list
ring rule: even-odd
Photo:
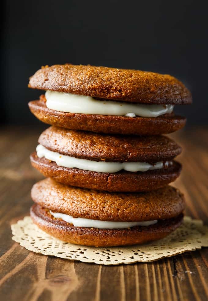
[[28,87],[46,91],[29,103],[39,120],[106,134],[174,132],[186,122],[174,105],[191,103],[189,90],[170,75],[90,65],[42,67]]

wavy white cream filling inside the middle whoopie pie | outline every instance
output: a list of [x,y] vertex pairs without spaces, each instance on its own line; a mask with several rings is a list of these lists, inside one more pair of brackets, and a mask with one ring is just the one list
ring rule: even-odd
[[61,155],[58,152],[52,152],[46,149],[43,145],[39,144],[36,147],[37,156],[39,158],[45,157],[48,160],[56,162],[58,166],[69,167],[69,168],[79,168],[89,171],[97,172],[117,172],[122,169],[125,171],[147,171],[153,169],[161,169],[165,166],[172,165],[172,161],[167,161],[165,164],[163,162],[157,162],[151,165],[146,162],[106,162],[106,161],[92,161],[86,159],[74,158],[71,156]]

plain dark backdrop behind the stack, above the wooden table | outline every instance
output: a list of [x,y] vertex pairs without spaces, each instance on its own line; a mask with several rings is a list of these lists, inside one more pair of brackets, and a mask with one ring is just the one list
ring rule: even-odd
[[205,1],[5,1],[1,122],[40,122],[27,88],[42,65],[91,64],[169,73],[191,90],[177,106],[188,126],[208,123]]

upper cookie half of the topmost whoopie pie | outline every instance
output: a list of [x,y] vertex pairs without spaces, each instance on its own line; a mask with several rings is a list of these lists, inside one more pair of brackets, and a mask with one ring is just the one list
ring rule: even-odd
[[43,67],[28,87],[138,103],[191,103],[191,93],[173,76],[90,65]]

